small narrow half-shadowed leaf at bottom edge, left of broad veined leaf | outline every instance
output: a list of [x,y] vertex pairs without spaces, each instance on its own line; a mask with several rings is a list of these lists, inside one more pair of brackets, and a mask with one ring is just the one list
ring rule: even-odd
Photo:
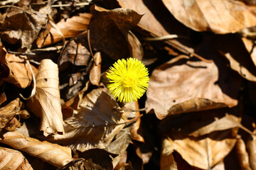
[[174,152],[174,147],[169,144],[168,139],[164,139],[161,148],[161,159],[160,159],[160,169],[161,170],[178,170],[177,164],[174,160],[172,153]]

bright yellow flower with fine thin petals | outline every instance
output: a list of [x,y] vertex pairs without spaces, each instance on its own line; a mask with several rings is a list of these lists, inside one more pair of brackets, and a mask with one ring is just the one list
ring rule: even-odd
[[117,60],[107,72],[110,94],[118,101],[137,101],[149,86],[149,72],[141,61],[129,58]]

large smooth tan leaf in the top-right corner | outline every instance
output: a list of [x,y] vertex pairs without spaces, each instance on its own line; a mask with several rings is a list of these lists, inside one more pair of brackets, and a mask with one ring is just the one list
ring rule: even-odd
[[196,31],[225,34],[256,25],[255,7],[241,1],[162,1],[178,21]]

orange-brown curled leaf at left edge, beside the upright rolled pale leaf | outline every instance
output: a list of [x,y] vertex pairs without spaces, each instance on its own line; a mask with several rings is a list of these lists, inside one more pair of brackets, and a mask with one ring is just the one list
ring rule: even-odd
[[[0,48],[2,64],[2,79],[8,81],[11,84],[14,84],[18,88],[26,88],[30,86],[32,81],[32,72],[29,69],[28,63],[22,57],[16,55],[11,55],[6,52],[4,47]],[[36,74],[37,69],[31,65],[33,73]]]

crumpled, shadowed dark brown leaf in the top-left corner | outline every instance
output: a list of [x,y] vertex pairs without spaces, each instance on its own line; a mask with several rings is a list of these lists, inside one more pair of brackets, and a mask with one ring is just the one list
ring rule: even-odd
[[1,17],[1,39],[10,44],[16,44],[20,40],[21,48],[30,49],[41,28],[46,26],[50,12],[50,3],[35,10],[31,6],[26,10],[11,8],[11,11]]

